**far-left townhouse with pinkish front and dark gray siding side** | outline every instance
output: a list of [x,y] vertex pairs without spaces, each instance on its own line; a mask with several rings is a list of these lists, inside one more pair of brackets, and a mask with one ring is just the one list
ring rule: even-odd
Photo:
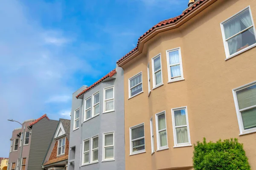
[[[8,170],[42,170],[42,160],[47,152],[58,121],[50,120],[47,115],[34,120],[23,122],[23,129],[17,128],[12,132],[11,147],[9,153]],[[24,135],[23,141],[21,140]],[[22,160],[20,168],[20,149],[23,144]]]

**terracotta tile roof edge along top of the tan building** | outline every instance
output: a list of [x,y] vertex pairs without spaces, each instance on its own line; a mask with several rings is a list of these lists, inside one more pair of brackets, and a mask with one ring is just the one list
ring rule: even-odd
[[163,20],[160,23],[158,23],[157,25],[153,26],[152,28],[150,28],[147,32],[145,32],[142,36],[140,36],[140,38],[138,39],[137,42],[137,46],[130,52],[128,52],[124,57],[122,57],[121,59],[119,59],[116,63],[118,64],[119,62],[121,62],[123,59],[125,59],[126,57],[128,57],[129,55],[133,54],[134,51],[136,51],[139,47],[139,42],[140,40],[145,37],[147,34],[149,34],[151,31],[153,31],[155,28],[157,27],[162,27],[162,26],[166,26],[168,24],[171,23],[175,23],[177,22],[177,20],[180,20],[182,17],[184,17],[186,14],[188,14],[190,11],[192,11],[195,7],[197,7],[199,4],[204,3],[207,0],[198,0],[196,3],[194,3],[194,5],[190,6],[190,8],[187,8],[185,11],[183,11],[182,14],[180,14],[177,17],[174,18],[170,18],[168,20]]

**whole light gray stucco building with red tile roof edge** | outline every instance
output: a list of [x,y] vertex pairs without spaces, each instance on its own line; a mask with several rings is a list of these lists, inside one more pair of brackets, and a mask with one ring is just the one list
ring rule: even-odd
[[124,170],[123,70],[73,94],[68,170]]

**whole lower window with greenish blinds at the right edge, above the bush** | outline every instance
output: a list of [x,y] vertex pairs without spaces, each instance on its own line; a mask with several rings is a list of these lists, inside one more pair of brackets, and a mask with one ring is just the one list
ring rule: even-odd
[[256,81],[233,89],[240,134],[256,132]]

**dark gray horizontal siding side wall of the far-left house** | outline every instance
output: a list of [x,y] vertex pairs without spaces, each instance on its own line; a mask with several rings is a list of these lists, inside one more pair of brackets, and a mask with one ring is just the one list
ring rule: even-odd
[[32,127],[29,150],[29,163],[27,170],[42,170],[42,163],[46,155],[58,121],[41,119]]

